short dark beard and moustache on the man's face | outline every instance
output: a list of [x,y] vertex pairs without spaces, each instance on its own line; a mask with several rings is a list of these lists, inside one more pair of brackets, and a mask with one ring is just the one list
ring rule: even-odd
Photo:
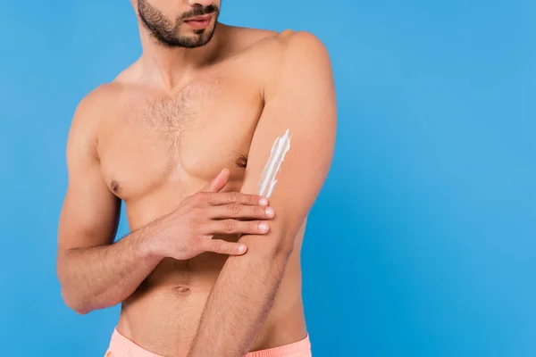
[[[147,0],[138,0],[139,19],[144,27],[151,33],[153,37],[163,46],[166,47],[183,47],[196,48],[205,46],[214,36],[216,24],[220,9],[218,6],[211,4],[208,6],[198,6],[188,12],[183,12],[177,16],[174,24],[169,21],[163,12],[147,3]],[[180,25],[185,20],[206,14],[214,14],[214,25],[212,29],[194,29],[190,34],[181,34]]]

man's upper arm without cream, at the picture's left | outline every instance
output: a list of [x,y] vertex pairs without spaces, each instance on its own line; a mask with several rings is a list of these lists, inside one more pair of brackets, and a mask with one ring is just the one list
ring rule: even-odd
[[120,202],[106,186],[96,154],[97,107],[94,92],[80,102],[71,123],[69,185],[58,228],[59,259],[70,249],[111,244],[116,233]]

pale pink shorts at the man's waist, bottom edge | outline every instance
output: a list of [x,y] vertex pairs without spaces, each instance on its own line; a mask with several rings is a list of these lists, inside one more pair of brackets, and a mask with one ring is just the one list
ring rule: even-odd
[[[106,351],[105,357],[163,357],[155,353],[150,353],[125,336],[122,336],[117,328],[113,330],[110,347]],[[311,357],[311,343],[309,336],[301,341],[290,345],[282,345],[247,353],[247,357]]]

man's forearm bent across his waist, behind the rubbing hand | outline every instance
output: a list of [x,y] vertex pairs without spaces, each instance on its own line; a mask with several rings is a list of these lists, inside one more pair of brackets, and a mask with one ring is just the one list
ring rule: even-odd
[[147,248],[153,234],[140,228],[113,245],[65,253],[57,267],[65,303],[87,313],[125,300],[161,261]]

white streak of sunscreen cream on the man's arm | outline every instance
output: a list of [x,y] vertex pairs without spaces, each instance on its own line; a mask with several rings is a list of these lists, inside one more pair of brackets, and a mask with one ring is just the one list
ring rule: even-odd
[[266,162],[263,175],[259,180],[258,195],[262,195],[266,198],[272,195],[273,188],[277,183],[277,173],[281,170],[281,164],[285,159],[285,155],[290,150],[291,137],[289,129],[287,129],[282,137],[277,137],[273,142],[270,158],[268,159],[268,162]]

